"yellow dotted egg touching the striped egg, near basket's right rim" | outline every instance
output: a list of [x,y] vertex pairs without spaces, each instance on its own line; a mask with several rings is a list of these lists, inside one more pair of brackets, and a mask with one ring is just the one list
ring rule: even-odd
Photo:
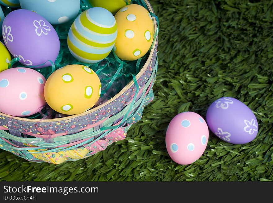
[[118,36],[115,54],[123,60],[137,60],[150,49],[154,39],[154,23],[150,13],[142,6],[131,4],[115,15]]

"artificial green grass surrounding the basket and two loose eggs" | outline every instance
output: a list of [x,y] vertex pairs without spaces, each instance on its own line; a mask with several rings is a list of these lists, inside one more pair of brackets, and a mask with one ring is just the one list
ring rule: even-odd
[[[1,181],[273,180],[273,1],[150,0],[159,17],[155,99],[127,138],[105,151],[60,165],[32,163],[0,150]],[[217,98],[251,108],[259,132],[235,145],[210,132],[190,165],[168,156],[165,132],[176,114],[205,118]]]

